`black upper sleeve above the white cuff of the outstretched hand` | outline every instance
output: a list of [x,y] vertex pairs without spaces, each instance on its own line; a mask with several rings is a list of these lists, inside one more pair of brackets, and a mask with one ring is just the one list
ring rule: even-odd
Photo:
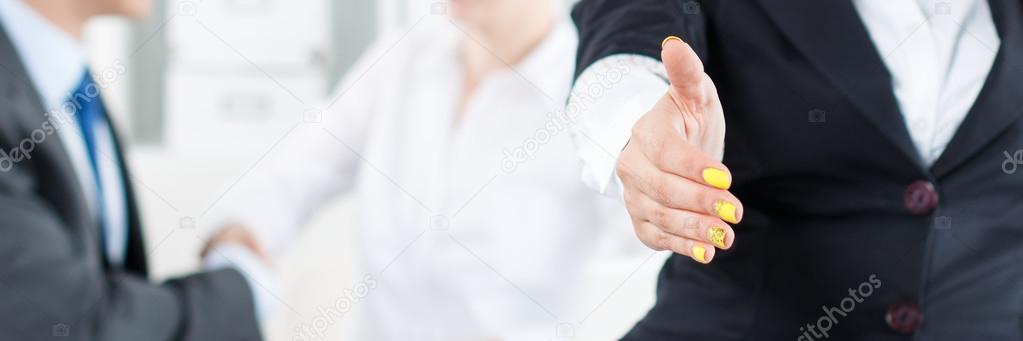
[[706,60],[706,8],[694,0],[583,0],[572,10],[579,29],[575,75],[606,56],[661,59],[661,41],[681,37]]

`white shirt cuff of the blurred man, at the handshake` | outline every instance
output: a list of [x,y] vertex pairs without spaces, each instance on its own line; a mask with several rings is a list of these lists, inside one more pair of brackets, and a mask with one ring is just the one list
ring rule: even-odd
[[256,318],[261,323],[268,321],[275,305],[273,293],[277,290],[277,279],[259,256],[240,245],[224,244],[210,250],[203,267],[208,270],[233,268],[241,272],[253,293]]

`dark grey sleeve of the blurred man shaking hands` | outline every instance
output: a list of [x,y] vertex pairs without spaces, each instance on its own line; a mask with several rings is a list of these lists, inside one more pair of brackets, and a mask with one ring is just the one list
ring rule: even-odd
[[240,273],[220,270],[162,285],[103,268],[83,241],[28,187],[19,164],[0,175],[0,340],[259,340]]

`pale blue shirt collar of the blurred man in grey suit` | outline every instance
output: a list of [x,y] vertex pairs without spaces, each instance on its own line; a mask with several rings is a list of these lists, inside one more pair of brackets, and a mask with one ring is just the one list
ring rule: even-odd
[[47,110],[68,101],[86,70],[82,43],[21,0],[0,0],[0,24]]

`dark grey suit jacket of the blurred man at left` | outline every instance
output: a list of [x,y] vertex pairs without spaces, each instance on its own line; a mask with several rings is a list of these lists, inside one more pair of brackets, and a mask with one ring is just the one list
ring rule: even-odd
[[146,280],[127,173],[129,247],[124,266],[107,264],[100,226],[88,218],[55,130],[77,126],[44,113],[0,29],[0,148],[8,159],[0,161],[0,340],[260,340],[252,293],[237,271]]

